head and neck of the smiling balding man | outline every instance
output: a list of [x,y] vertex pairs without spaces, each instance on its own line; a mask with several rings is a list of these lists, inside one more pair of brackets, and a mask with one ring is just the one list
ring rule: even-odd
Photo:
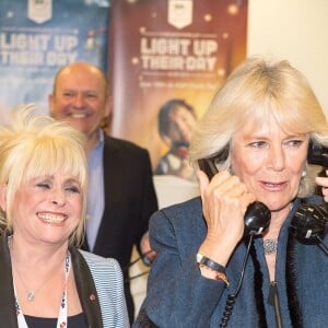
[[86,136],[90,152],[98,142],[104,118],[109,115],[105,74],[86,62],[63,67],[55,78],[49,105],[56,119],[68,121]]

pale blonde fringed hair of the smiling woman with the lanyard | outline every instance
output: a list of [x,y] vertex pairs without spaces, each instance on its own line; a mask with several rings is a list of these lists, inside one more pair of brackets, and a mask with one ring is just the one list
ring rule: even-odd
[[15,192],[27,180],[55,175],[59,171],[74,176],[82,192],[82,218],[70,236],[80,245],[86,216],[87,164],[84,136],[68,124],[46,115],[36,115],[31,105],[12,112],[0,128],[0,184],[7,186],[7,211],[0,210],[0,223],[12,232]]

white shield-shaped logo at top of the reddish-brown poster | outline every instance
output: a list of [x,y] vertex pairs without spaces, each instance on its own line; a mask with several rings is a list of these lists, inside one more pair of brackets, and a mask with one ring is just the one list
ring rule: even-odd
[[168,0],[167,22],[176,28],[192,23],[192,0]]

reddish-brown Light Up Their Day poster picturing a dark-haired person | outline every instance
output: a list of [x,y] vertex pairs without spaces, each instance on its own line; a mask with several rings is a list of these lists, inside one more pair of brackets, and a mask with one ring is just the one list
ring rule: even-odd
[[192,127],[246,56],[247,0],[112,2],[112,134],[150,151],[155,176],[195,180]]

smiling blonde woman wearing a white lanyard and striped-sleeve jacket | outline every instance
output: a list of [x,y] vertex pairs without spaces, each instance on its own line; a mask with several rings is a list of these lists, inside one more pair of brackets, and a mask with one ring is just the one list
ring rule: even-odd
[[0,128],[0,323],[22,327],[129,327],[114,259],[77,248],[87,168],[80,132],[15,110]]

